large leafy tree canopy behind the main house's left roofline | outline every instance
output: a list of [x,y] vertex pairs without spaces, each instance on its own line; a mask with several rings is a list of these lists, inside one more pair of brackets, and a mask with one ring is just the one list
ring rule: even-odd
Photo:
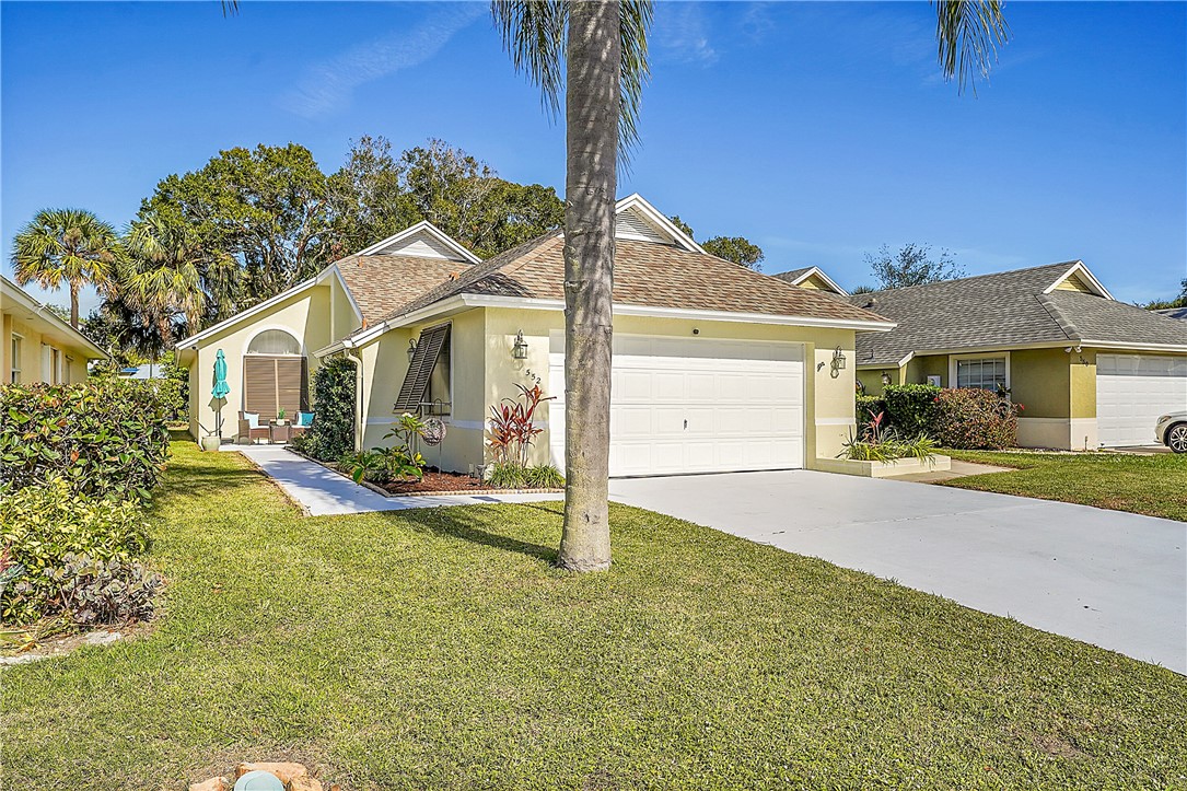
[[[167,302],[185,305],[193,330],[421,220],[487,258],[559,228],[564,204],[552,188],[499,178],[443,140],[395,154],[387,139],[364,135],[330,175],[294,143],[221,151],[198,170],[161,179],[133,229],[185,240],[174,252],[184,252],[193,293],[173,290]],[[159,252],[155,267],[140,258],[141,284],[154,268],[158,280],[182,272],[163,271]],[[205,305],[201,316],[193,304]]]

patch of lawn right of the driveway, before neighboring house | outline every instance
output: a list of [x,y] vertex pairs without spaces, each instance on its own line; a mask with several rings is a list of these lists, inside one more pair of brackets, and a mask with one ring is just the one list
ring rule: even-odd
[[945,486],[1062,500],[1187,521],[1187,454],[1032,454],[941,450],[964,461],[1016,467]]

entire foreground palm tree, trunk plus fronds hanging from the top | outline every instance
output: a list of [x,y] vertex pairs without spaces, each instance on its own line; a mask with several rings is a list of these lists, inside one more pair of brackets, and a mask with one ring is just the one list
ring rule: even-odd
[[[935,0],[939,61],[963,89],[1005,42],[1001,0]],[[650,0],[493,0],[515,68],[565,91],[565,523],[558,564],[610,565],[610,340],[617,160],[637,140]]]

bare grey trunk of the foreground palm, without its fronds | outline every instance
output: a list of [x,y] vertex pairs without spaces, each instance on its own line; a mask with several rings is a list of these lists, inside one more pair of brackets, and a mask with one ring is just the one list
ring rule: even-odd
[[557,564],[610,567],[610,341],[620,14],[572,2],[565,89],[565,525]]

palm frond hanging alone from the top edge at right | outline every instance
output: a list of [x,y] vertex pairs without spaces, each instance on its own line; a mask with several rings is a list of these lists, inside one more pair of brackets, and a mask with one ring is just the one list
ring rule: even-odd
[[932,0],[935,6],[935,38],[939,61],[947,80],[957,88],[965,84],[977,93],[976,77],[989,76],[997,62],[997,50],[1009,40],[1010,29],[1002,13],[1002,0]]

